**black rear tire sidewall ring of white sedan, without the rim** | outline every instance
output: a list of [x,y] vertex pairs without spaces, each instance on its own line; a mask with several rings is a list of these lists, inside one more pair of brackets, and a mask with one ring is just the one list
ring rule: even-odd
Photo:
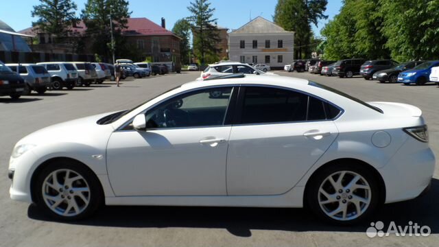
[[[340,171],[351,171],[356,172],[357,174],[360,174],[363,176],[364,179],[367,180],[370,190],[372,193],[372,198],[369,204],[368,209],[366,212],[364,212],[361,216],[355,218],[354,220],[348,220],[348,221],[340,221],[340,220],[334,220],[333,218],[326,215],[322,209],[320,209],[320,205],[318,203],[318,189],[320,188],[320,185],[324,181],[325,178],[327,178],[330,174],[333,174],[335,172]],[[306,197],[305,200],[307,202],[307,205],[310,207],[310,209],[315,213],[320,219],[325,220],[331,224],[338,224],[338,225],[353,225],[357,224],[359,222],[362,222],[370,217],[372,213],[377,209],[379,203],[380,203],[380,191],[378,186],[378,180],[375,178],[375,175],[370,172],[369,169],[363,167],[362,165],[353,164],[353,165],[347,165],[347,164],[337,164],[337,165],[331,165],[329,167],[325,167],[322,170],[316,174],[316,176],[313,176],[311,180],[309,181],[309,187],[306,191]]]

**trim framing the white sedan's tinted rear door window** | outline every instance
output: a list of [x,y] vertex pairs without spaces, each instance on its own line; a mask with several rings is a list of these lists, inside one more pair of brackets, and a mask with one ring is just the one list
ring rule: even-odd
[[[316,99],[320,99],[320,101],[331,104],[335,108],[340,110],[340,113],[338,113],[337,116],[333,117],[332,119],[320,119],[320,120],[305,120],[305,121],[281,121],[281,122],[265,122],[265,123],[253,123],[253,124],[241,124],[241,116],[242,116],[242,110],[244,108],[244,97],[246,95],[246,87],[250,86],[256,86],[256,87],[268,87],[271,89],[281,89],[286,91],[292,91],[294,93],[302,93],[304,95],[308,96],[308,102],[307,102],[307,115],[308,115],[308,104],[309,104],[309,97],[315,97]],[[325,116],[327,116],[327,106],[324,106]],[[273,124],[296,124],[296,123],[309,123],[309,122],[320,122],[320,121],[335,121],[338,118],[340,118],[344,114],[344,109],[340,106],[337,106],[333,104],[332,102],[329,102],[327,99],[322,99],[322,97],[318,97],[317,95],[313,95],[311,93],[307,93],[304,91],[300,91],[297,89],[291,89],[283,86],[273,86],[273,85],[266,85],[266,84],[242,84],[239,86],[239,92],[237,96],[237,105],[235,107],[235,113],[233,114],[233,121],[232,126],[260,126],[260,125],[273,125]]]

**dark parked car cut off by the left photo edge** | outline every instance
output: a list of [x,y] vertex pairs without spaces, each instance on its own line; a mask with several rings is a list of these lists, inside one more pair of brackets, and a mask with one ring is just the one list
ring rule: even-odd
[[0,96],[19,99],[25,91],[25,80],[0,61]]

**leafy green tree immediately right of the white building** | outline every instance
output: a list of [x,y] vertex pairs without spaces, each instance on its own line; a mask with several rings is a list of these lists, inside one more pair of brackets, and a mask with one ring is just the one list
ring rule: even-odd
[[274,22],[287,31],[294,31],[294,58],[305,58],[311,55],[311,25],[318,25],[324,15],[327,0],[278,0],[274,10]]

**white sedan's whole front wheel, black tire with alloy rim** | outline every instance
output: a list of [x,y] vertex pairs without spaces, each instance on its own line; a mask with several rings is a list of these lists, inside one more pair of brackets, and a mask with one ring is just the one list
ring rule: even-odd
[[[66,180],[66,175],[77,179]],[[59,185],[54,185],[55,177]],[[36,174],[34,185],[38,208],[62,221],[89,217],[103,202],[99,180],[90,169],[77,161],[58,159],[50,163]]]

